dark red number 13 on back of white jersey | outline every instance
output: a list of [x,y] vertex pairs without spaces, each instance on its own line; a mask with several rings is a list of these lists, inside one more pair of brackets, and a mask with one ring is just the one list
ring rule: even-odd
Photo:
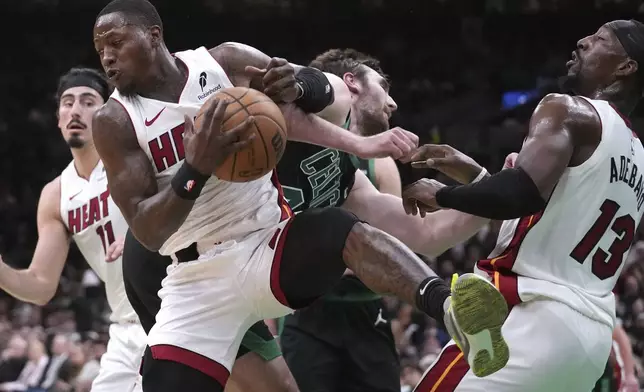
[[[570,253],[570,257],[577,260],[579,264],[583,264],[594,250],[591,269],[593,274],[601,280],[608,279],[617,273],[624,261],[624,255],[630,249],[635,238],[635,220],[632,216],[627,214],[615,219],[619,207],[620,205],[614,200],[604,200],[599,208],[601,211],[599,218]],[[609,235],[616,235],[617,238],[605,251],[598,244],[607,235],[609,228],[612,232]]]

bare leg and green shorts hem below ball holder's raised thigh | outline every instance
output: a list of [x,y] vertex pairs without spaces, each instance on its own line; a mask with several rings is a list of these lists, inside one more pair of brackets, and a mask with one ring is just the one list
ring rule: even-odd
[[263,321],[244,335],[226,392],[298,392],[282,351]]

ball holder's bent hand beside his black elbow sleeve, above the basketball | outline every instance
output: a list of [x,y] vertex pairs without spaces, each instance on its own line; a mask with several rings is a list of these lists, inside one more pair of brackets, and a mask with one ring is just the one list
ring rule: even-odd
[[264,94],[275,102],[293,102],[298,97],[298,87],[295,80],[295,68],[279,57],[273,57],[266,68],[246,67],[246,72],[261,77]]

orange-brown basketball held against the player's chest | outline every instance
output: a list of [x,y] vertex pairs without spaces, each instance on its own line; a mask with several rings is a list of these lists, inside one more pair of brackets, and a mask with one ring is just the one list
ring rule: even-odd
[[[265,94],[245,87],[231,87],[219,91],[201,107],[195,126],[213,99],[229,102],[222,122],[222,132],[241,124],[249,116],[255,118],[255,139],[250,146],[231,154],[213,173],[230,182],[256,180],[277,166],[286,147],[286,121],[280,108]],[[251,131],[252,132],[252,131]]]

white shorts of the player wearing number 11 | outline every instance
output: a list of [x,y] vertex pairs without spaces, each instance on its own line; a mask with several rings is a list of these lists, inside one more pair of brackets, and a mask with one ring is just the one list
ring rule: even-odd
[[145,332],[138,324],[110,325],[110,340],[101,357],[101,368],[92,392],[141,391],[139,369]]

